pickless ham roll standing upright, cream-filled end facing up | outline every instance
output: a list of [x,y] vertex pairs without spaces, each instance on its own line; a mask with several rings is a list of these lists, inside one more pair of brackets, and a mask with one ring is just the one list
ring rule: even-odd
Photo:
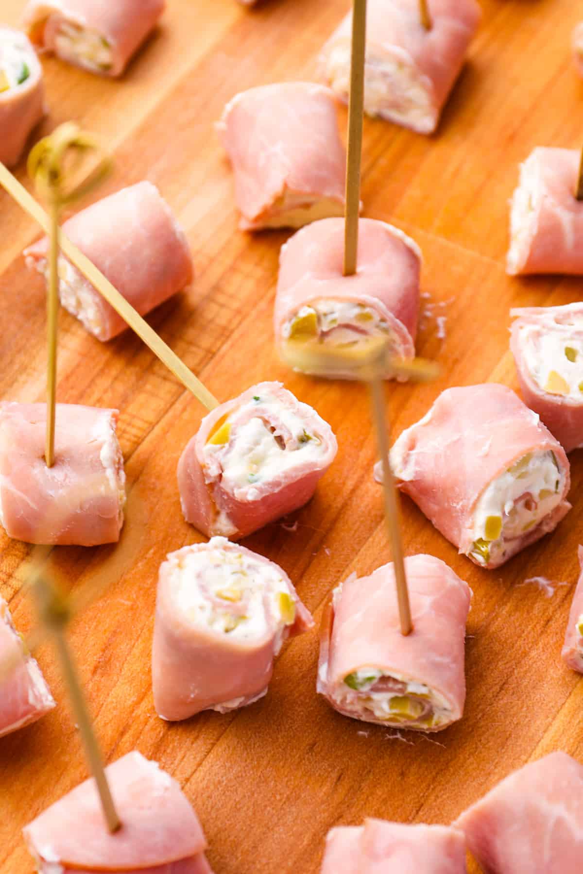
[[253,704],[267,693],[283,642],[313,624],[273,561],[226,538],[170,552],[160,567],[152,646],[158,716]]

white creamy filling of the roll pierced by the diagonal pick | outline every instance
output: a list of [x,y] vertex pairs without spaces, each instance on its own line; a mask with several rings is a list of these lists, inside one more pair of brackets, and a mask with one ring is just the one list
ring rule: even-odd
[[[260,497],[253,489],[255,484],[281,480],[288,469],[318,461],[323,452],[321,437],[306,430],[305,421],[295,410],[270,392],[255,397],[257,400],[248,400],[227,417],[222,426],[229,427],[226,442],[207,442],[204,449],[209,471],[222,471],[223,485],[235,496],[243,490],[249,501]],[[257,415],[249,417],[254,411]],[[271,425],[271,421],[280,425]]]

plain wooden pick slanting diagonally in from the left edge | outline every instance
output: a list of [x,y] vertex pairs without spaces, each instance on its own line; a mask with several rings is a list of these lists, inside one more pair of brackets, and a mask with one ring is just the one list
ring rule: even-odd
[[[22,206],[25,212],[34,218],[45,232],[50,233],[51,221],[45,211],[38,205],[37,201],[31,197],[28,191],[21,185],[17,178],[12,176],[10,170],[0,163],[0,185],[5,191],[17,201],[17,204]],[[132,305],[125,299],[123,295],[111,284],[111,282],[95,267],[93,261],[89,260],[86,255],[80,252],[77,246],[74,246],[70,239],[66,238],[64,233],[60,233],[60,248],[66,257],[80,270],[82,273],[100,292],[106,301],[111,304],[116,313],[119,313],[121,318],[128,326],[135,331],[144,343],[152,352],[162,361],[171,373],[188,389],[189,392],[197,398],[207,410],[213,410],[215,406],[219,406],[219,401],[213,397],[211,392],[195,377],[194,373],[184,364],[184,361],[179,358],[176,352],[170,349],[167,343],[164,343],[162,337],[156,334],[153,328],[142,319]]]

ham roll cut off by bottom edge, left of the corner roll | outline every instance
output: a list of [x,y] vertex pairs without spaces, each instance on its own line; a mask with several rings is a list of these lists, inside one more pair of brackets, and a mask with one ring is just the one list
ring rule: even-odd
[[461,831],[366,819],[330,829],[321,874],[466,874]]

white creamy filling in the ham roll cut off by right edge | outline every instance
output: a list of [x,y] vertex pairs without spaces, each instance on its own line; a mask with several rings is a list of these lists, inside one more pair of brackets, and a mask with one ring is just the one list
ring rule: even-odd
[[520,339],[526,366],[539,388],[583,403],[583,318],[574,319],[572,327],[579,336],[573,336],[567,324],[549,330],[526,324]]

